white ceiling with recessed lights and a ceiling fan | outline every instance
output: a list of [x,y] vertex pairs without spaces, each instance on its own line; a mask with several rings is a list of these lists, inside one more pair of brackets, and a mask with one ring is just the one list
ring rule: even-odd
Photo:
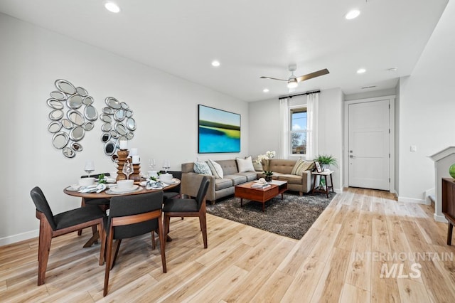
[[[448,0],[0,0],[0,11],[240,100],[287,95],[289,78],[328,68],[294,91],[345,94],[410,75]],[[361,14],[347,21],[353,8]],[[220,60],[213,68],[211,61]],[[365,68],[358,75],[356,70]],[[391,72],[389,68],[397,68]],[[362,89],[361,87],[373,86]],[[262,92],[267,87],[268,93]]]

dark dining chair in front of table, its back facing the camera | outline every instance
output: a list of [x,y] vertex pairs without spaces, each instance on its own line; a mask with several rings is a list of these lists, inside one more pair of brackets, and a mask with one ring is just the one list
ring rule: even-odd
[[[151,233],[158,228],[163,272],[166,272],[166,255],[164,252],[164,228],[161,220],[163,192],[142,193],[132,196],[111,198],[109,217],[105,219],[106,240],[106,269],[103,295],[107,295],[109,272],[114,267],[120,244],[124,238],[132,238],[145,233]],[[117,240],[114,257],[112,257],[112,241]],[[152,235],[153,239],[153,235]],[[152,244],[154,246],[154,243]]]

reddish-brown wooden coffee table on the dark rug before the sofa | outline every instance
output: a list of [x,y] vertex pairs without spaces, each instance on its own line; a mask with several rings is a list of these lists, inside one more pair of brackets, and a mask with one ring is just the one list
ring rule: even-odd
[[283,200],[283,193],[287,191],[287,181],[273,180],[270,183],[270,187],[264,189],[252,188],[251,185],[253,183],[254,181],[235,186],[234,196],[240,198],[240,207],[243,206],[243,199],[248,199],[262,203],[262,211],[264,211],[265,202],[278,196],[280,193],[282,194]]

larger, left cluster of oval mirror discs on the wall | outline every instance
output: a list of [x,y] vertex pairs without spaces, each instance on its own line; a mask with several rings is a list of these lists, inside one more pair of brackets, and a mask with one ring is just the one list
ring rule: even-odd
[[60,149],[64,156],[73,158],[77,151],[82,151],[80,141],[85,132],[93,129],[98,113],[85,88],[75,87],[63,79],[55,80],[55,87],[57,90],[50,92],[47,101],[52,108],[48,131],[53,134],[53,147]]

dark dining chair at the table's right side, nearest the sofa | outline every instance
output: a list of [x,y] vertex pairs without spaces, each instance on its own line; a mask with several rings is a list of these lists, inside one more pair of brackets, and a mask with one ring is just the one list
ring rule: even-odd
[[207,195],[210,179],[204,176],[200,182],[198,196],[193,198],[170,198],[164,203],[164,224],[166,235],[169,233],[171,217],[198,217],[202,231],[204,248],[207,248],[207,220],[205,216],[205,196]]

